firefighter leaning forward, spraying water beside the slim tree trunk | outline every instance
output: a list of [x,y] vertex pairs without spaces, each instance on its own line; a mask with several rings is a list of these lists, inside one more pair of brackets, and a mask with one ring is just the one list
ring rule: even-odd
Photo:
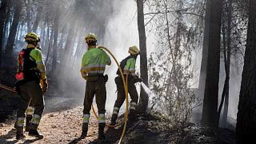
[[[120,67],[124,74],[124,78],[126,79],[126,75],[128,75],[128,93],[131,97],[130,102],[130,112],[128,115],[128,119],[132,119],[136,114],[136,108],[138,103],[138,93],[135,87],[136,82],[141,82],[142,80],[138,78],[135,74],[135,65],[136,65],[136,58],[140,54],[140,50],[138,50],[137,46],[131,46],[128,50],[130,56],[126,57],[124,60],[120,62]],[[124,85],[122,81],[122,77],[120,74],[119,69],[117,70],[116,74],[118,75],[115,78],[116,88],[117,88],[117,99],[114,104],[114,110],[111,118],[111,125],[114,126],[116,124],[116,119],[120,110],[120,107],[124,103],[126,98]]]

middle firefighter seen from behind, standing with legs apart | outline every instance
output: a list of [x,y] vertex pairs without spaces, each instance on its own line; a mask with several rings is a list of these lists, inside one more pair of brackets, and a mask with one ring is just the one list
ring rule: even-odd
[[111,60],[108,54],[97,48],[97,38],[95,34],[86,34],[84,38],[88,45],[88,51],[82,58],[81,74],[86,80],[86,90],[84,96],[83,124],[82,134],[80,138],[85,138],[88,131],[88,122],[90,118],[90,110],[94,95],[96,96],[96,104],[98,107],[98,138],[104,139],[105,123],[105,104],[106,104],[106,82],[108,76],[104,76],[106,65],[110,66]]

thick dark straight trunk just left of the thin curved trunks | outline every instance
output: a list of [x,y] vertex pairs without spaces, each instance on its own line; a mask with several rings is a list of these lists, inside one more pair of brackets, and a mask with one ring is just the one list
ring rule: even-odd
[[[211,3],[209,3],[209,1],[211,1]],[[210,4],[210,7],[208,4]],[[205,26],[209,26],[210,30],[205,33],[208,34],[207,47],[209,55],[206,67],[202,125],[217,130],[222,0],[207,0],[207,7],[210,8],[211,14],[210,18],[205,21]],[[209,10],[206,10],[206,13],[207,12],[209,12]]]

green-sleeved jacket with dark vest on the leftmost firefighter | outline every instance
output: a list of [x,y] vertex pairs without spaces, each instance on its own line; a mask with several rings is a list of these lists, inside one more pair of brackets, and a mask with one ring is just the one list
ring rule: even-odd
[[[40,50],[38,50],[37,48],[35,48],[34,45],[32,44],[28,44],[28,46],[26,47],[26,52],[29,53],[29,61],[24,61],[24,65],[23,68],[25,71],[28,72],[28,74],[30,72],[38,72],[40,74],[40,79],[46,79],[46,68],[43,62],[43,56]],[[28,68],[28,70],[26,70],[26,68]],[[25,73],[24,71],[24,73]],[[20,64],[19,61],[17,62],[17,73],[20,72]],[[25,74],[26,75],[26,74]],[[29,77],[29,76],[28,76]],[[26,77],[25,77],[26,79]]]

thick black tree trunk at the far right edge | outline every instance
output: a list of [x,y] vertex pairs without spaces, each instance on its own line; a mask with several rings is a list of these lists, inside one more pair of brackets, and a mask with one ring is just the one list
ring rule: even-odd
[[256,136],[256,0],[250,0],[244,70],[236,122],[236,143],[249,144]]

